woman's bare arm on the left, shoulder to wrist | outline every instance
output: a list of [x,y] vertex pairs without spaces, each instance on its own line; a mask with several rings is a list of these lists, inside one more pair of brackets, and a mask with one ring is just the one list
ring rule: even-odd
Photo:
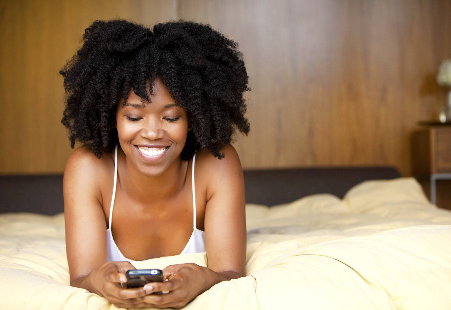
[[106,262],[106,223],[97,185],[99,164],[91,151],[78,147],[66,163],[63,179],[70,283],[89,291],[92,288],[84,278]]

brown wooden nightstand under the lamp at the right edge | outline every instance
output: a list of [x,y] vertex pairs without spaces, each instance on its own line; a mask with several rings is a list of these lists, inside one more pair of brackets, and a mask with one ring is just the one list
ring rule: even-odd
[[[430,179],[431,202],[437,202],[437,180],[451,180],[451,124],[420,122],[412,139],[412,173]],[[451,188],[446,192],[451,192]],[[449,207],[448,207],[449,208]]]

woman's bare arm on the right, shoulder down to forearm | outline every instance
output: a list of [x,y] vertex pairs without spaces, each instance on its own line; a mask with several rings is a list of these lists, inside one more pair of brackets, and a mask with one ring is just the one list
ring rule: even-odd
[[226,157],[209,159],[209,185],[205,209],[205,237],[208,268],[217,282],[245,274],[246,215],[244,178],[235,148],[227,144]]

